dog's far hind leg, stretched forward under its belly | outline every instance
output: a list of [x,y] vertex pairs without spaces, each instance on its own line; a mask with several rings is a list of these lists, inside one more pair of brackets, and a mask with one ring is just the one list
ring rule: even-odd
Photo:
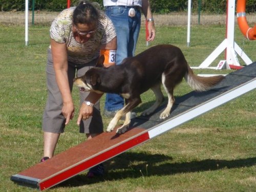
[[156,102],[148,109],[142,112],[142,116],[150,115],[152,114],[158,106],[163,102],[164,96],[161,91],[161,83],[156,84],[154,87],[151,88],[151,90],[154,92],[156,96]]

